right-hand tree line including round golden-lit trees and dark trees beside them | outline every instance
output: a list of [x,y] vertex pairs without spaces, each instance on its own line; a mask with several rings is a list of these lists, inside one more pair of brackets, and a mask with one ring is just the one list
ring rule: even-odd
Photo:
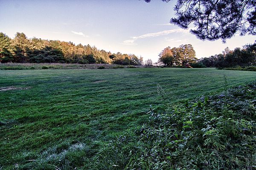
[[180,45],[179,47],[166,47],[159,54],[157,65],[165,67],[186,67],[191,65],[195,68],[216,67],[233,68],[256,65],[256,43],[244,45],[243,48],[235,48],[233,51],[228,47],[222,54],[197,59],[195,50],[191,44]]

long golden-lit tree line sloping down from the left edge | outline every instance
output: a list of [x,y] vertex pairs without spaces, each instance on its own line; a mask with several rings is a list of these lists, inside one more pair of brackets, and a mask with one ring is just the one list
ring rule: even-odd
[[142,65],[143,57],[120,52],[111,53],[89,44],[75,45],[73,42],[27,38],[24,33],[19,32],[11,39],[0,32],[0,62]]

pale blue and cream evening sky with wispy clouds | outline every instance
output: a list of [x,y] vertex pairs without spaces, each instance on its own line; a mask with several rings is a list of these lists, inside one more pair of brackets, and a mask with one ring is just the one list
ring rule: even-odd
[[99,49],[135,54],[157,62],[166,47],[191,44],[196,57],[220,54],[254,43],[255,36],[235,36],[202,41],[189,30],[169,23],[175,17],[176,1],[161,0],[0,0],[0,32],[15,37],[23,32],[28,38],[71,41],[76,45],[95,45]]

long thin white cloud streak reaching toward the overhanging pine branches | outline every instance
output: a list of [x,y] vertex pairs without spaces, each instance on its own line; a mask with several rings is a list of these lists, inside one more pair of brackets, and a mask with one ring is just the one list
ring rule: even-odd
[[159,36],[163,36],[163,35],[168,35],[168,34],[172,34],[172,33],[189,33],[189,30],[184,30],[184,29],[171,29],[171,30],[166,30],[166,31],[160,31],[160,32],[155,32],[155,33],[149,33],[149,34],[143,34],[137,37],[131,37],[130,40],[125,40],[123,41],[122,44],[124,45],[136,45],[136,43],[134,43],[136,40],[138,39],[143,39],[143,38],[150,38],[150,37],[159,37]]

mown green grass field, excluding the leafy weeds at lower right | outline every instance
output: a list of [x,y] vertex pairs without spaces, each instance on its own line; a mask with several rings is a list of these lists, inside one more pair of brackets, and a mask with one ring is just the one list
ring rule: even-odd
[[230,86],[256,79],[214,68],[0,71],[0,170],[93,169],[100,142],[159,107],[157,84],[177,102],[223,90],[223,74]]

